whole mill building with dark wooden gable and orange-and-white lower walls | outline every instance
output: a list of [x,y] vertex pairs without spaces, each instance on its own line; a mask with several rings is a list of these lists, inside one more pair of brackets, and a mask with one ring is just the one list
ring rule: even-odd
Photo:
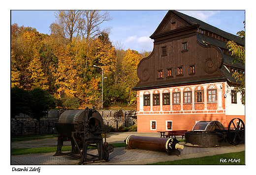
[[138,64],[138,132],[192,130],[198,121],[245,120],[235,71],[244,72],[226,46],[237,36],[177,11],[168,11],[156,31],[154,49]]

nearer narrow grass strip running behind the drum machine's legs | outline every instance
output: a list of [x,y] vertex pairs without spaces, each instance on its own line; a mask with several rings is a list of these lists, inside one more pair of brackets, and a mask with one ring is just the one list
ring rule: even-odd
[[[114,148],[125,147],[126,143],[111,144]],[[88,147],[89,150],[95,149],[95,147]],[[71,151],[71,146],[62,147],[62,151]],[[22,149],[11,149],[11,155],[22,155],[22,154],[38,154],[47,152],[56,152],[57,147],[42,147],[42,148],[22,148]]]

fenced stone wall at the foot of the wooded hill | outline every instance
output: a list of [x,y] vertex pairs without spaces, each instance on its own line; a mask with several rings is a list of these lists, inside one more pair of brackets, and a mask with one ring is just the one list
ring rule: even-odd
[[[11,135],[57,134],[54,124],[58,123],[63,112],[63,109],[49,110],[47,116],[41,118],[40,121],[25,114],[15,116],[14,119],[11,119]],[[119,127],[137,125],[135,110],[98,110],[98,112],[103,118],[103,125],[112,126],[117,131]]]

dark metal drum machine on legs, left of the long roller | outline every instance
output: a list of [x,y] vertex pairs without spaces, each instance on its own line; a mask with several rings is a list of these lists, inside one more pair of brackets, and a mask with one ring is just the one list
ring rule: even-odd
[[[105,160],[108,161],[109,153],[114,150],[112,145],[106,142],[106,133],[109,127],[103,127],[103,119],[95,108],[85,110],[68,110],[55,123],[58,131],[58,148],[54,156],[70,155],[80,158],[78,164],[86,161]],[[103,143],[102,134],[105,136]],[[71,141],[71,152],[62,152],[64,140]],[[96,147],[97,154],[89,154],[88,146]],[[75,155],[75,154],[80,154]]]

